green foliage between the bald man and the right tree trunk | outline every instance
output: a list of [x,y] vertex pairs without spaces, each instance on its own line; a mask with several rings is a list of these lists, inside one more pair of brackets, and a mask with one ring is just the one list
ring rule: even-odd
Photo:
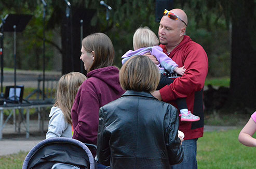
[[230,75],[231,33],[223,6],[219,1],[191,1],[185,3],[183,9],[189,21],[187,35],[202,45],[208,55],[208,75]]

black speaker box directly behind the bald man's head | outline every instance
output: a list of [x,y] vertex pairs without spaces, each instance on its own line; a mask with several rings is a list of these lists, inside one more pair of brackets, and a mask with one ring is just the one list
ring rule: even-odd
[[173,8],[173,0],[156,0],[156,22],[160,22],[165,9]]

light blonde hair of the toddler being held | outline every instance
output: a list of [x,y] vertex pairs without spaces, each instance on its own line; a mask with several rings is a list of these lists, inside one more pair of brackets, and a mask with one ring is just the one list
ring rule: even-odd
[[133,35],[133,49],[153,47],[159,44],[156,34],[147,26],[139,27]]

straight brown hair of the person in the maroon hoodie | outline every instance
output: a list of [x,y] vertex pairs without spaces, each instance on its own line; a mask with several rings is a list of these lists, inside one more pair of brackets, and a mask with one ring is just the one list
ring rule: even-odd
[[82,45],[87,52],[94,51],[95,56],[91,70],[112,66],[115,57],[113,44],[108,36],[103,33],[88,35],[82,41]]

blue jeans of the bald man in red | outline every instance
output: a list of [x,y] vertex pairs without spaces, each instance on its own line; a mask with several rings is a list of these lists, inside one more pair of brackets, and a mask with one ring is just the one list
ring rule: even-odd
[[180,164],[171,166],[171,169],[197,169],[196,141],[197,139],[185,140],[182,142],[184,159]]

